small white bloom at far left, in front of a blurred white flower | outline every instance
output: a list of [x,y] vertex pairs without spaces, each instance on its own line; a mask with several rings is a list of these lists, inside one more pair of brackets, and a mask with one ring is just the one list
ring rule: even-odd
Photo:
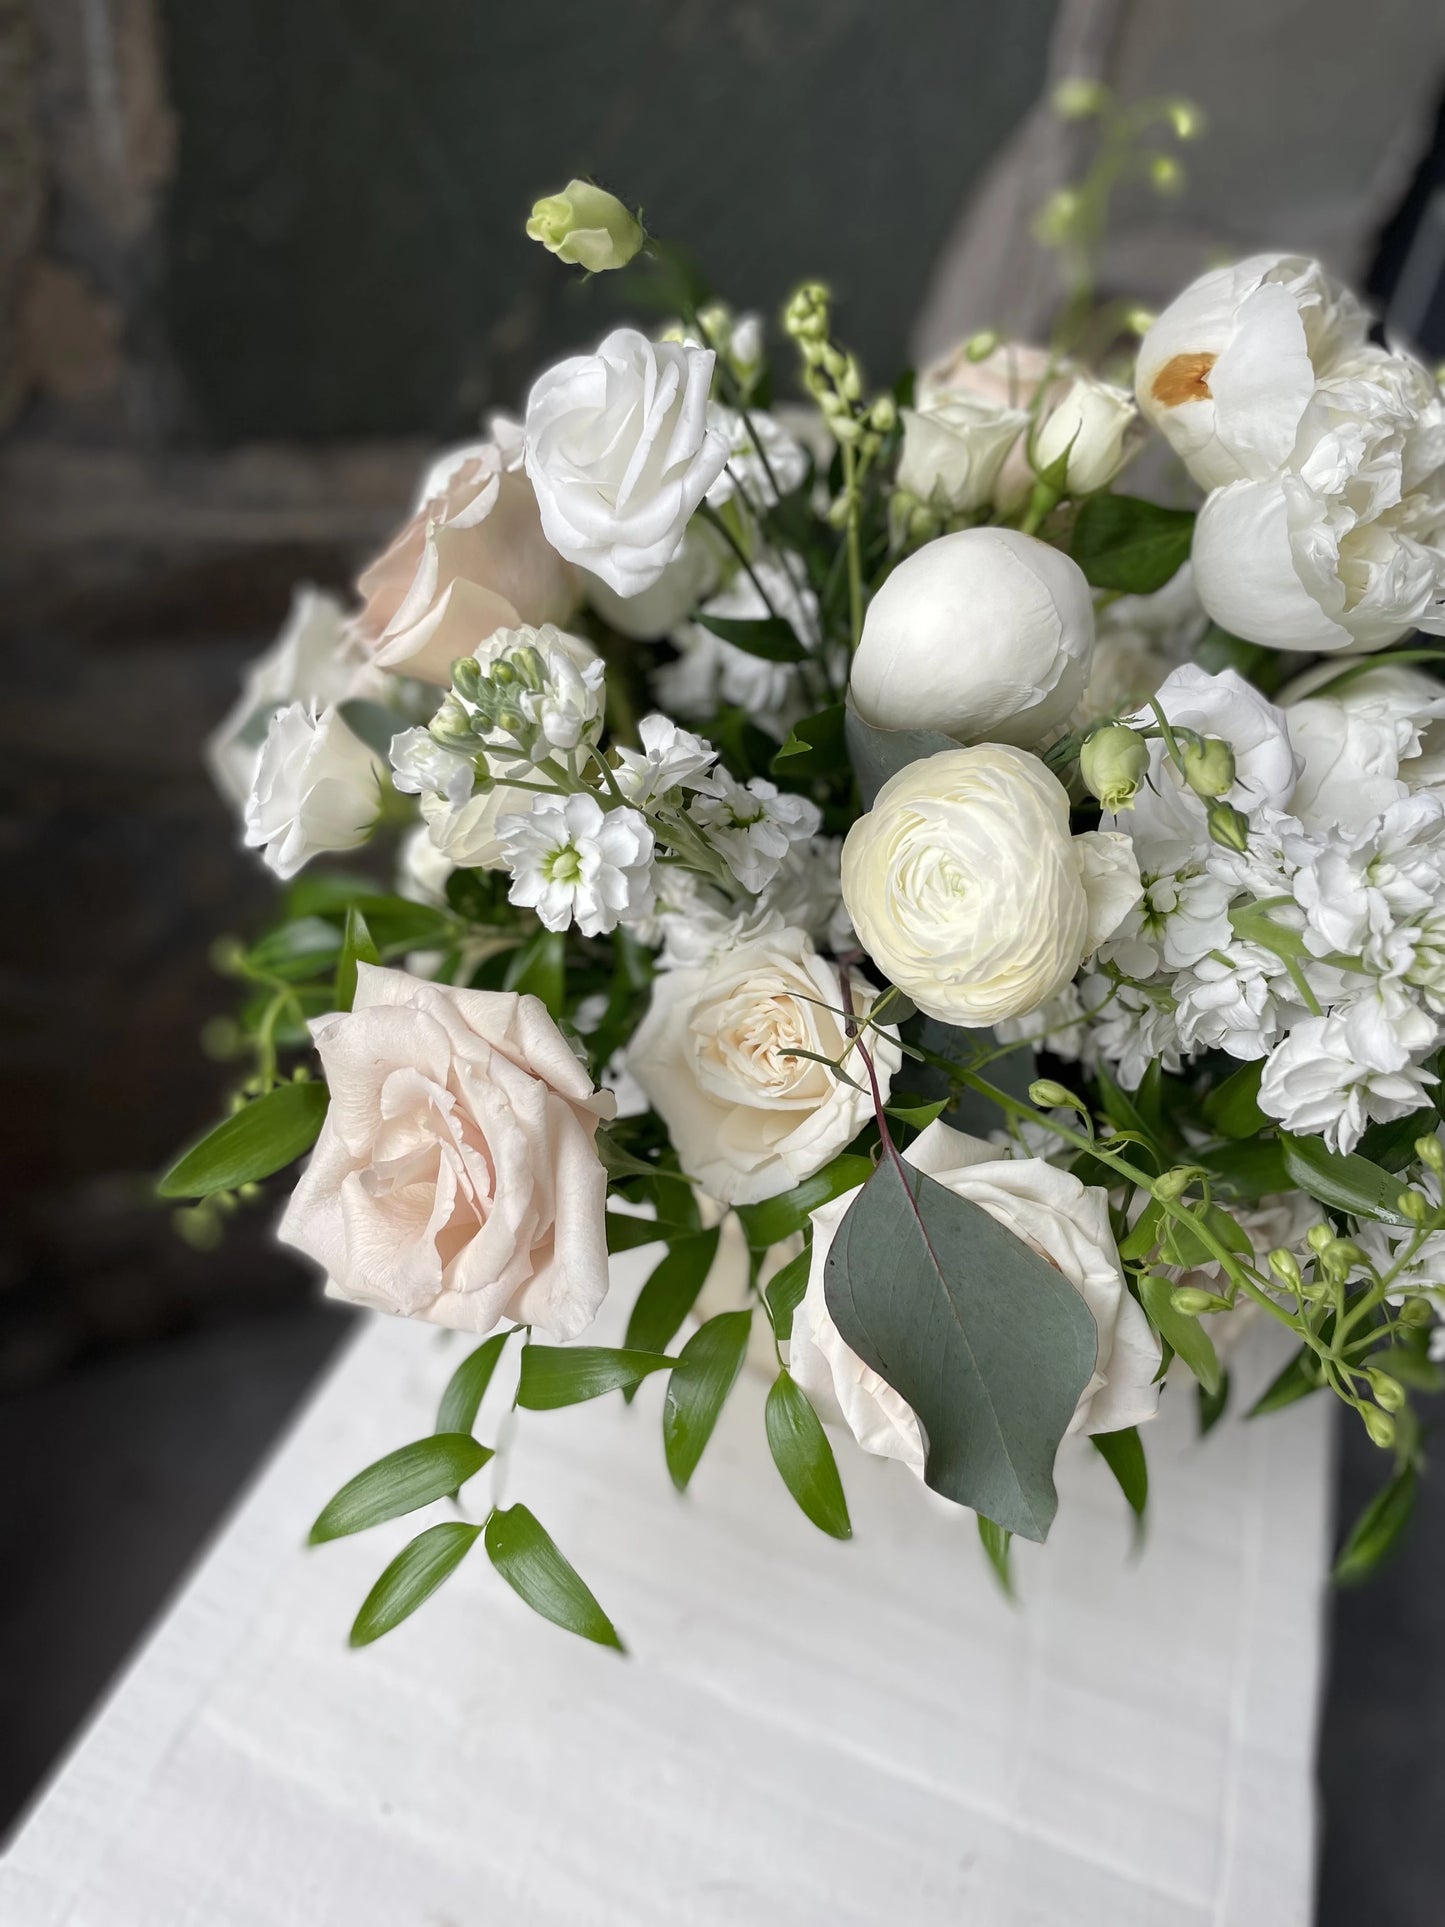
[[277,877],[295,877],[324,850],[355,850],[381,811],[383,771],[335,709],[279,709],[247,798],[247,846],[264,850]]

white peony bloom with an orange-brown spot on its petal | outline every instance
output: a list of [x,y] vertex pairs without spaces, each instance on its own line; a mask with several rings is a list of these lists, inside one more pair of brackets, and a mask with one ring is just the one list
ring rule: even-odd
[[1191,281],[1148,330],[1139,407],[1200,488],[1272,480],[1295,453],[1316,382],[1364,347],[1366,330],[1366,312],[1318,262],[1252,254]]

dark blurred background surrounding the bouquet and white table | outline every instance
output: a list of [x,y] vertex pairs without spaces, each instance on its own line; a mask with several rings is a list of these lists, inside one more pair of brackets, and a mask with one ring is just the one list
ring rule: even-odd
[[[1285,245],[1445,355],[1439,0],[0,0],[0,1825],[347,1332],[270,1208],[197,1251],[150,1195],[223,1102],[210,944],[272,900],[200,765],[241,663],[599,333],[539,191],[595,173],[769,316],[828,279],[892,374],[1044,330],[1064,75],[1210,121],[1104,293]],[[1376,1480],[1351,1436],[1343,1509]],[[1439,1919],[1441,1526],[1445,1476],[1331,1607],[1326,1927]]]

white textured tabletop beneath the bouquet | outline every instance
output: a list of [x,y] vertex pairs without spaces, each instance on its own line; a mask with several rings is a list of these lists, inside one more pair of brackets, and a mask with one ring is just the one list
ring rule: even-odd
[[304,1530],[430,1428],[457,1357],[362,1330],[17,1836],[6,1927],[1310,1921],[1324,1401],[1198,1443],[1173,1387],[1139,1561],[1102,1461],[1065,1449],[1021,1609],[971,1520],[848,1441],[855,1540],[825,1540],[749,1374],[688,1499],[659,1386],[522,1414],[507,1497],[632,1657],[534,1619],[480,1547],[351,1653],[418,1520]]

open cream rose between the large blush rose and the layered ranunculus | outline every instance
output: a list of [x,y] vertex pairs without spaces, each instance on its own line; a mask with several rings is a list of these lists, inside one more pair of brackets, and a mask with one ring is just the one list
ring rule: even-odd
[[[854,987],[859,1016],[873,1004]],[[838,971],[801,931],[767,931],[709,969],[653,981],[626,1068],[669,1129],[682,1170],[722,1204],[757,1204],[823,1170],[873,1116],[867,1091],[827,1064],[850,1041]],[[886,1096],[902,1062],[890,1031],[869,1031]],[[857,1054],[844,1069],[865,1085]]]

